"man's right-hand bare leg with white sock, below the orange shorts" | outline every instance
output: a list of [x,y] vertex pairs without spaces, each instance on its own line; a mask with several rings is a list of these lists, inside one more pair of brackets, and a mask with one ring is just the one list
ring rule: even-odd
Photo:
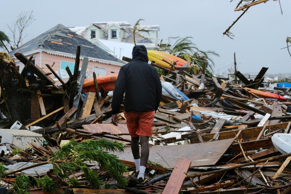
[[140,146],[141,149],[141,158],[140,158],[140,170],[137,178],[141,178],[141,182],[143,182],[145,171],[146,171],[146,163],[149,159],[149,137],[148,136],[140,136]]

